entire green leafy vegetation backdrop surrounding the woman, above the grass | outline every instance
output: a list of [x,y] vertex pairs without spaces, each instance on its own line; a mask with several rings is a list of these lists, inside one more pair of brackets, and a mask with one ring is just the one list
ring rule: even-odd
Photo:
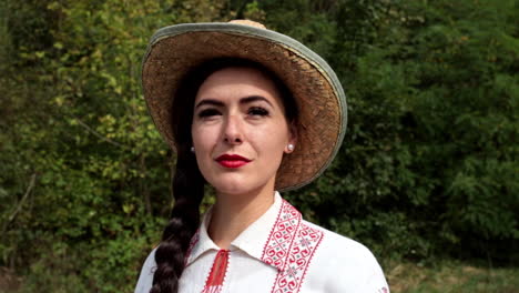
[[314,49],[348,95],[337,160],[286,194],[308,220],[383,263],[517,265],[518,17],[513,0],[1,1],[0,266],[26,292],[132,290],[174,161],[142,99],[146,42],[234,18]]

